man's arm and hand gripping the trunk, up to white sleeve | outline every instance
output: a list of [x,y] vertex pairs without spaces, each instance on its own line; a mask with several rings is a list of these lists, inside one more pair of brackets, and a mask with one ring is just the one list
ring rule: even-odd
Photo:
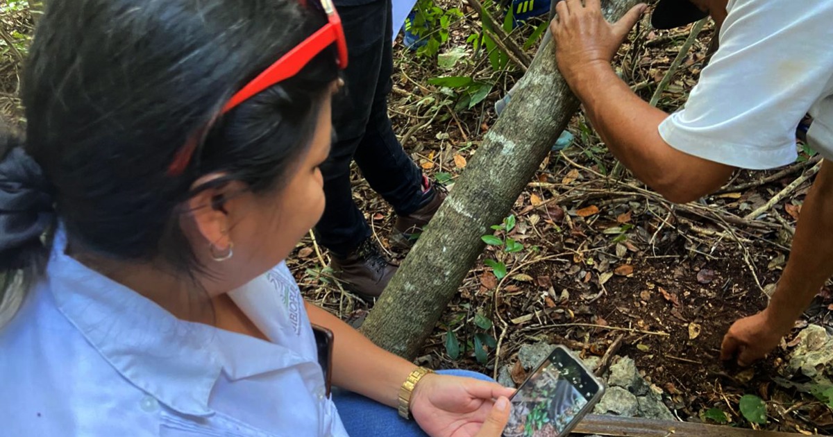
[[601,15],[600,0],[558,2],[558,17],[550,25],[558,69],[616,158],[666,199],[694,201],[722,186],[733,167],[669,146],[658,130],[668,114],[643,102],[611,68],[645,9],[637,5],[611,24]]

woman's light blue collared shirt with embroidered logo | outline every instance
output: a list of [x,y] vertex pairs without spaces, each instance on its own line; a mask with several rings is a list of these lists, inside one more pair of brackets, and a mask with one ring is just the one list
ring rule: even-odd
[[65,246],[0,330],[0,435],[347,435],[283,263],[230,294],[267,342],[178,320]]

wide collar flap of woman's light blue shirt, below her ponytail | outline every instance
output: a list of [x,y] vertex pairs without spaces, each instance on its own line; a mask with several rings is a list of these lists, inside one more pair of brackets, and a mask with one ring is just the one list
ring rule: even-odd
[[179,320],[135,291],[65,255],[57,231],[47,266],[57,308],[124,378],[186,415],[211,415],[209,396],[222,370],[217,330]]

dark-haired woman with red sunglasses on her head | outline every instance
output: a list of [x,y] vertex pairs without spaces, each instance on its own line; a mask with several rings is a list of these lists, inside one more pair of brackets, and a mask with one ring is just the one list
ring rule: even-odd
[[49,2],[0,136],[2,435],[501,434],[511,390],[377,348],[282,262],[346,64],[329,0]]

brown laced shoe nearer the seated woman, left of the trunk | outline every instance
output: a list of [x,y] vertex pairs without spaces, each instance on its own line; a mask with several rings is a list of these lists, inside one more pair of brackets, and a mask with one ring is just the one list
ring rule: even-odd
[[347,257],[331,255],[330,266],[333,276],[347,284],[345,288],[369,302],[382,295],[399,268],[387,259],[372,236]]

